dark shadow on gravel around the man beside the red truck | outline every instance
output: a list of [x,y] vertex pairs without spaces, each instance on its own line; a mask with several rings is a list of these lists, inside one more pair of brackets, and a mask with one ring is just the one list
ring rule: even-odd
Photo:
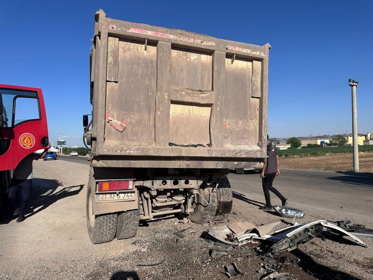
[[[26,219],[43,211],[57,200],[77,195],[84,185],[65,187],[56,192],[56,189],[60,186],[62,186],[62,183],[57,180],[33,179]],[[13,215],[13,209],[8,204],[2,213],[0,224],[8,224],[13,219],[16,219],[16,216]]]

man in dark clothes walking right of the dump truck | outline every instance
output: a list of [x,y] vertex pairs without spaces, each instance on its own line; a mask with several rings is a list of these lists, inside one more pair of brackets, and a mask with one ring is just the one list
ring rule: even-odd
[[[267,135],[268,140],[268,135]],[[287,204],[287,198],[283,197],[280,192],[272,186],[273,180],[276,176],[280,175],[280,158],[277,154],[275,146],[268,142],[267,145],[267,158],[262,169],[260,176],[262,177],[263,192],[265,198],[265,205],[260,207],[261,210],[272,210],[271,198],[269,191],[273,192],[281,199],[282,206]]]

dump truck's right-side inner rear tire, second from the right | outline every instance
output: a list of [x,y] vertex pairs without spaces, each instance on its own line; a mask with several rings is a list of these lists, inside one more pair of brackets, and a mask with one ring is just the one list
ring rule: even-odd
[[[218,197],[216,190],[213,190],[212,187],[208,187],[207,185],[200,187],[198,192],[200,195],[196,196],[198,198],[196,201],[196,208],[187,218],[194,223],[203,224],[214,219],[217,211]],[[204,200],[201,197],[203,197]],[[210,204],[206,203],[209,201]]]

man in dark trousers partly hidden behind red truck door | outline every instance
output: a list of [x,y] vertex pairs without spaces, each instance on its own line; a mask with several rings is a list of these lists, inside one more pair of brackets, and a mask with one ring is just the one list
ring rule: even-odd
[[[29,198],[30,198],[30,188],[31,188],[31,183],[33,179],[32,162],[34,160],[44,158],[49,148],[50,146],[48,146],[44,150],[42,155],[38,155],[35,153],[31,153],[27,155],[23,160],[19,162],[19,164],[17,165],[14,171],[12,184],[11,184],[11,187],[9,188],[8,198],[9,198],[11,205],[13,206],[13,209],[16,209],[13,214],[18,215],[18,218],[16,220],[17,223],[23,222],[25,220],[26,208],[27,208],[27,203],[29,202]],[[18,203],[17,203],[18,193],[21,198],[20,203],[19,203],[19,208],[17,207],[18,206]]]

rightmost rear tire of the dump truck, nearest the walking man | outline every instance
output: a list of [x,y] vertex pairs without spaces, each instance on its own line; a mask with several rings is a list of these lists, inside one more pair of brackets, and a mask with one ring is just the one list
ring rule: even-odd
[[225,220],[232,211],[233,195],[231,183],[227,177],[223,177],[219,181],[217,193],[217,206],[214,221]]

